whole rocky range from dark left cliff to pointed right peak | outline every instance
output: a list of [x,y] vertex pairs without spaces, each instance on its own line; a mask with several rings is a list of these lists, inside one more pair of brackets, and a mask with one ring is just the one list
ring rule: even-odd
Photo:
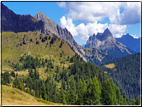
[[[53,35],[68,43],[72,49],[85,61],[93,62],[97,65],[116,61],[122,56],[135,53],[129,47],[115,39],[107,28],[103,33],[90,36],[85,48],[78,45],[72,34],[61,28],[53,20],[42,12],[38,12],[34,17],[31,15],[17,15],[3,4],[2,6],[2,32],[27,32],[40,31],[45,35]],[[87,49],[89,48],[89,49]],[[91,50],[91,51],[90,51]]]

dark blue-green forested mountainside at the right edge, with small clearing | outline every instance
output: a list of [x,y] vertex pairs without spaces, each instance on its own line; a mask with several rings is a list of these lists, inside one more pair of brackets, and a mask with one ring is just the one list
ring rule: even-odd
[[121,92],[129,96],[129,99],[140,97],[140,54],[124,56],[113,64],[102,66],[102,70],[112,77]]

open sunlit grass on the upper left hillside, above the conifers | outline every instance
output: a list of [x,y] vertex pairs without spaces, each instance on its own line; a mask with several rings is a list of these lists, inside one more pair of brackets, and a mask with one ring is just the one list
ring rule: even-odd
[[[51,35],[52,36],[52,35]],[[23,38],[25,43],[23,44]],[[30,42],[32,39],[33,42]],[[36,44],[36,41],[39,44]],[[47,58],[54,60],[54,66],[69,66],[67,57],[70,58],[75,55],[74,51],[65,42],[63,46],[59,48],[61,43],[60,39],[56,39],[53,44],[50,44],[51,38],[45,42],[41,42],[39,32],[3,32],[2,33],[2,72],[12,71],[10,65],[16,63],[20,56],[24,54],[30,54],[31,56],[39,58]],[[22,45],[20,45],[22,44]],[[47,45],[48,44],[48,45]],[[60,54],[62,53],[62,57]],[[61,64],[61,62],[66,62]],[[42,68],[39,71],[43,70]],[[43,77],[44,78],[44,77]]]

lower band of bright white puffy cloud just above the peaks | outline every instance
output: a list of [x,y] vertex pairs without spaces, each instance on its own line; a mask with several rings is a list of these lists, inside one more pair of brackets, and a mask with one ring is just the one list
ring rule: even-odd
[[100,24],[97,22],[94,23],[84,23],[75,26],[71,18],[66,18],[63,16],[60,19],[60,24],[63,28],[67,28],[73,36],[78,36],[82,40],[88,40],[89,36],[92,36],[94,33],[97,34],[103,33],[106,28],[109,28],[114,37],[121,37],[126,31],[126,25],[116,25],[116,24]]

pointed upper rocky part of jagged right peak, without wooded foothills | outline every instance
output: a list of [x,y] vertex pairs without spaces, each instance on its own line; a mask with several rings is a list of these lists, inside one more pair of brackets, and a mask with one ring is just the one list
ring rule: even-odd
[[97,48],[118,58],[133,53],[133,51],[128,49],[125,45],[118,42],[112,36],[108,28],[103,33],[98,33],[97,35],[93,34],[93,36],[90,36],[85,48]]

